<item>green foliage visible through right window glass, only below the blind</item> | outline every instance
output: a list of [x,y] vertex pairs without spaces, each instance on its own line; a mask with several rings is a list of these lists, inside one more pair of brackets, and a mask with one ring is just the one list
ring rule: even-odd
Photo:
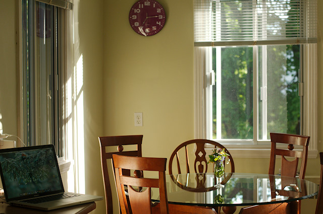
[[[258,93],[262,86],[259,47]],[[270,132],[300,133],[300,97],[298,70],[300,45],[266,46],[267,60],[267,137]],[[253,138],[253,60],[252,47],[224,47],[221,51],[222,138]],[[216,48],[213,48],[213,69]],[[217,80],[216,80],[217,82]],[[216,138],[216,86],[212,89],[213,138]],[[259,102],[259,138],[261,138],[262,101]]]

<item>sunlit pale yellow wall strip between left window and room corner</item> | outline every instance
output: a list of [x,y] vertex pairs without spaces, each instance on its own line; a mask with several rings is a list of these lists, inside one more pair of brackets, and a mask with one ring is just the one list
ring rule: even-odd
[[[103,132],[103,2],[73,1],[74,59],[75,63],[83,60],[85,192],[101,196],[104,190],[97,137]],[[104,200],[96,204],[94,213],[104,213]]]

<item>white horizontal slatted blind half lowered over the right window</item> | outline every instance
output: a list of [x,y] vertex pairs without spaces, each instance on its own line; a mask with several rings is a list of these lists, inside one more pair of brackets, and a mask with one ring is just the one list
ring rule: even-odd
[[316,0],[194,0],[195,46],[316,43]]

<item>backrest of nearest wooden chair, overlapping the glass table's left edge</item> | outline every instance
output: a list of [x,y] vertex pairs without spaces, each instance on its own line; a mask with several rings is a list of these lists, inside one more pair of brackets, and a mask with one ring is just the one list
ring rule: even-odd
[[[160,214],[169,213],[165,178],[166,158],[141,158],[114,154],[113,161],[122,214],[151,214],[151,188],[159,188]],[[124,175],[123,169],[133,170],[134,176]],[[156,171],[158,178],[143,178],[142,171]],[[137,187],[142,189],[146,187],[146,189],[136,191]],[[129,201],[125,188],[128,189]]]

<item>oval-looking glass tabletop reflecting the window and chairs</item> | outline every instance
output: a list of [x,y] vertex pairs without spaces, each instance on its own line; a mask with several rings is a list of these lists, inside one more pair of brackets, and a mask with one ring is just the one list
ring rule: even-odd
[[318,185],[307,180],[247,173],[226,173],[220,179],[213,173],[167,175],[166,184],[169,203],[222,206],[226,214],[236,206],[295,202],[318,191]]

